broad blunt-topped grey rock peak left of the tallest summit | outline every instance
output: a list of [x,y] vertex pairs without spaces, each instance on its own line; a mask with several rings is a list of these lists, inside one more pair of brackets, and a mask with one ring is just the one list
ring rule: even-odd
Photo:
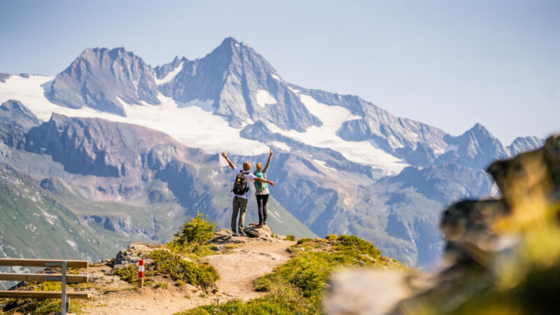
[[48,98],[55,104],[83,106],[126,116],[127,104],[160,104],[151,66],[124,48],[85,49],[58,74]]

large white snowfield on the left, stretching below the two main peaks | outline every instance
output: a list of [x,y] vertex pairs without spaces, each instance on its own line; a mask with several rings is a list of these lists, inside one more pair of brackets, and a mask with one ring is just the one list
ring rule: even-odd
[[[239,136],[239,130],[228,125],[220,116],[212,115],[197,104],[211,101],[191,101],[190,106],[179,106],[170,98],[158,95],[161,105],[129,105],[120,101],[127,117],[95,111],[87,107],[69,109],[51,103],[44,95],[41,85],[48,85],[52,76],[10,77],[0,83],[0,104],[8,99],[18,99],[39,119],[47,121],[52,113],[68,117],[102,118],[118,123],[130,123],[165,132],[184,145],[203,148],[210,153],[227,151],[235,155],[256,155],[268,151],[265,144]],[[208,106],[204,106],[208,108]]]

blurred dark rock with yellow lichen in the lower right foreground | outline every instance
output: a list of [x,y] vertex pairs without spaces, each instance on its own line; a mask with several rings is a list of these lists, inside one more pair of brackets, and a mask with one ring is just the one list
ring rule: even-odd
[[488,171],[502,195],[444,211],[440,272],[335,274],[325,312],[560,314],[560,137]]

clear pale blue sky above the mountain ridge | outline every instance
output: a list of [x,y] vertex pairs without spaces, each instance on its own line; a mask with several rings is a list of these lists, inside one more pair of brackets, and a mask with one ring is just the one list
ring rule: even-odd
[[54,75],[97,46],[155,66],[233,36],[291,83],[509,144],[560,132],[559,17],[540,0],[0,0],[0,72]]

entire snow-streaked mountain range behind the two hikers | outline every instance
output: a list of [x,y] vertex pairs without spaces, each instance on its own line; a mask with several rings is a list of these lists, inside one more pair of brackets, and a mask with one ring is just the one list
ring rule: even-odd
[[1,75],[0,102],[5,256],[70,244],[54,255],[97,259],[132,239],[166,241],[197,209],[225,228],[233,174],[218,152],[254,164],[270,146],[274,232],[358,235],[429,265],[441,210],[495,194],[490,162],[542,146],[504,146],[479,124],[452,136],[288,83],[235,38],[155,67],[124,48],[87,48],[55,77]]

